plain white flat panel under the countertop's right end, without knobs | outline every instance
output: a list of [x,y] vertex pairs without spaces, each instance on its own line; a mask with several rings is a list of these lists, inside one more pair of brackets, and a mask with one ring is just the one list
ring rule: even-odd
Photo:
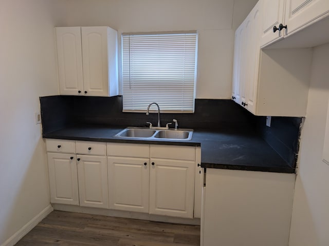
[[288,245],[295,174],[207,169],[203,246]]

